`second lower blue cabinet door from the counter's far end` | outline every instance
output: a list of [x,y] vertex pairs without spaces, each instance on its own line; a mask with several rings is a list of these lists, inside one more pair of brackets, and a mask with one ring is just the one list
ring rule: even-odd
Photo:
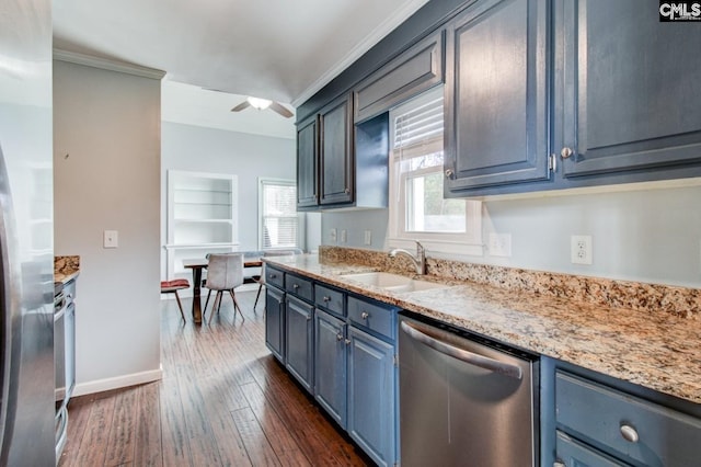
[[313,307],[289,295],[286,304],[286,366],[311,392],[313,387],[311,372]]

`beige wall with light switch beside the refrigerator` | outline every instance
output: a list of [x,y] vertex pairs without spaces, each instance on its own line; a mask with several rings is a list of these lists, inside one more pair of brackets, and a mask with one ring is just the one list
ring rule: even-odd
[[54,62],[55,253],[81,259],[77,394],[160,377],[160,89]]

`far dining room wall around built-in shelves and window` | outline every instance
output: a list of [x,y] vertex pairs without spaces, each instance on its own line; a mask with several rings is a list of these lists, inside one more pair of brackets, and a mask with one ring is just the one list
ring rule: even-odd
[[[258,178],[295,180],[295,139],[227,132],[163,122],[161,163],[161,244],[166,237],[168,170],[230,173],[238,175],[239,243],[241,250],[258,247]],[[166,277],[165,259],[162,274]]]

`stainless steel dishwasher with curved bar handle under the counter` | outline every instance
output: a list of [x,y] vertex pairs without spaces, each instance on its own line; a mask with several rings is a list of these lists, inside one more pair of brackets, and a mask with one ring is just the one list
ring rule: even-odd
[[403,467],[538,465],[536,356],[400,316],[399,361]]

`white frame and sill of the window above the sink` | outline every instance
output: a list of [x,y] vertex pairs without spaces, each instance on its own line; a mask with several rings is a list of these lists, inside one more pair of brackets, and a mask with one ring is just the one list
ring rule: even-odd
[[[406,229],[407,205],[406,205],[406,182],[415,176],[424,174],[440,173],[443,176],[443,166],[421,168],[413,171],[401,171],[402,160],[407,160],[423,155],[430,155],[437,151],[445,151],[443,133],[437,137],[429,137],[425,140],[407,145],[406,148],[394,148],[397,117],[412,109],[425,105],[430,100],[435,100],[443,92],[443,87],[434,88],[420,96],[407,101],[390,110],[390,161],[389,161],[389,223],[388,223],[388,247],[389,248],[414,248],[415,241],[434,253],[458,253],[469,255],[483,255],[482,243],[482,203],[476,200],[464,200],[466,202],[466,231],[464,232],[430,232],[412,231]],[[402,151],[409,152],[409,157]],[[445,153],[444,153],[445,156]]]

